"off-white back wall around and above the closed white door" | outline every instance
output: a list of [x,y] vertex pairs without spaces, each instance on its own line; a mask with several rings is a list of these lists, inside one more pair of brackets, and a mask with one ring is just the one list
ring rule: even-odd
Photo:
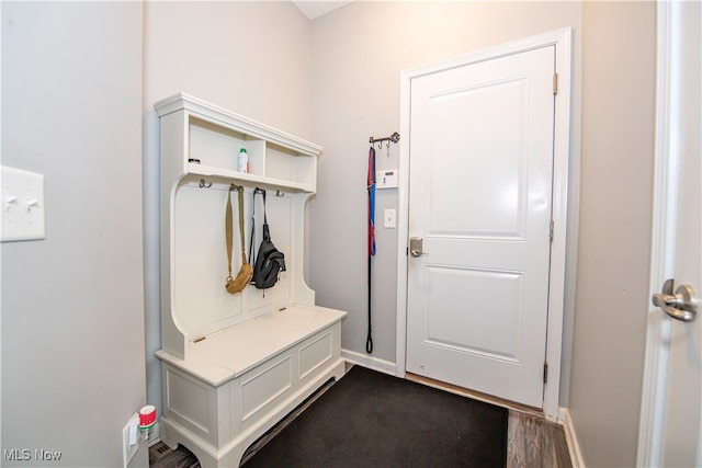
[[[355,2],[313,22],[313,139],[325,147],[325,153],[319,159],[318,194],[310,203],[315,251],[309,284],[318,304],[349,311],[342,347],[355,358],[381,366],[395,364],[396,286],[404,278],[397,278],[396,272],[397,230],[383,228],[381,219],[385,208],[397,208],[398,195],[397,190],[377,192],[374,352],[367,357],[365,176],[369,137],[399,130],[400,71],[566,26],[575,28],[577,96],[579,2]],[[577,155],[577,114],[573,127]],[[398,148],[393,146],[387,157],[384,147],[376,164],[397,169]],[[566,313],[569,328],[573,310]],[[566,365],[569,345],[566,340]],[[568,370],[563,373],[564,404]]]

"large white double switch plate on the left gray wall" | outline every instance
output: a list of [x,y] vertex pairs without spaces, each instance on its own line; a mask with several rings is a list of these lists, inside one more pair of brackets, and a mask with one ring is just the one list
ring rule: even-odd
[[0,240],[44,239],[44,175],[2,167],[0,185]]

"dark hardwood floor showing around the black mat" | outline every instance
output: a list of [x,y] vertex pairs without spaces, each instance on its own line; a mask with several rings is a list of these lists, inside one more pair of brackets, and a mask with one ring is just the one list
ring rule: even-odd
[[[483,393],[438,383],[424,377],[408,374],[407,378],[432,387],[439,387],[446,391],[464,395],[482,401],[502,406],[509,409],[508,435],[507,435],[507,467],[508,468],[573,468],[565,432],[559,424],[546,421],[539,410],[516,404],[509,401],[496,399]],[[319,397],[319,391],[315,397]],[[278,432],[309,404],[315,398],[310,398],[305,404],[293,411],[269,434],[254,443],[245,454],[244,459],[252,456],[256,449]],[[200,467],[195,456],[182,445],[177,450],[171,450],[166,444],[159,442],[149,448],[150,468],[196,468]]]

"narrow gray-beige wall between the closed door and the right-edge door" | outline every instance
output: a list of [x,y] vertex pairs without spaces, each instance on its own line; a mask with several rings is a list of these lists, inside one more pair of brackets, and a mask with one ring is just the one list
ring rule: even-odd
[[633,466],[648,310],[656,4],[582,3],[580,237],[569,410],[588,466]]

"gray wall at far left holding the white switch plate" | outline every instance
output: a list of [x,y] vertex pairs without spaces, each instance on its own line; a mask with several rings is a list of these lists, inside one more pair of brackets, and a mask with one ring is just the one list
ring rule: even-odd
[[46,198],[46,239],[1,244],[1,448],[32,457],[2,465],[122,466],[146,403],[141,4],[1,8],[2,164]]

